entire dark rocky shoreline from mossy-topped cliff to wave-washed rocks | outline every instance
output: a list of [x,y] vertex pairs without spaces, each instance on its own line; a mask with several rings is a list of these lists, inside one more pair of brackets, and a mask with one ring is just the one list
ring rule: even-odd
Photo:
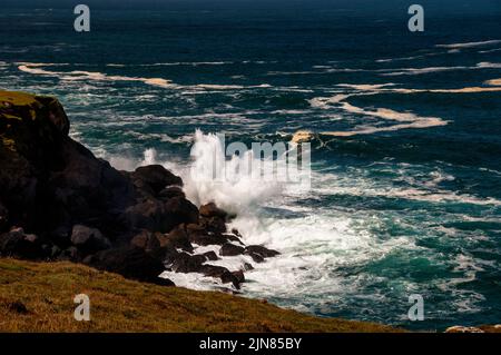
[[[165,270],[198,273],[237,290],[245,272],[213,265],[222,256],[254,263],[278,255],[228,230],[235,216],[199,208],[163,166],[119,171],[69,137],[51,97],[0,91],[0,256],[69,260],[158,285]],[[195,254],[197,246],[218,254]]]

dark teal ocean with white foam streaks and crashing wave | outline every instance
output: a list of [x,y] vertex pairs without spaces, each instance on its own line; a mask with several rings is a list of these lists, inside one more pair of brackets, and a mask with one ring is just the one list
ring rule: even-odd
[[[237,213],[247,244],[282,253],[246,273],[244,296],[410,329],[499,323],[499,1],[421,1],[424,32],[399,0],[89,1],[86,33],[76,3],[52,2],[0,10],[0,88],[57,96],[97,156],[163,164],[194,201]],[[310,189],[187,178],[206,164],[194,142],[299,130],[314,134]]]

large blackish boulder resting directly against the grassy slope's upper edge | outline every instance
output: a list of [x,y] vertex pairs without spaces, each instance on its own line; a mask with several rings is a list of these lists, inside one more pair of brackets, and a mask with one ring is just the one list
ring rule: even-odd
[[161,283],[158,276],[165,270],[161,260],[134,246],[99,252],[90,260],[90,266],[153,284]]

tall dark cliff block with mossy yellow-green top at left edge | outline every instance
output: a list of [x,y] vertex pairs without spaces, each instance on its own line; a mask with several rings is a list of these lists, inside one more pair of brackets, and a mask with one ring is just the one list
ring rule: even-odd
[[130,179],[68,131],[68,117],[55,98],[0,91],[0,199],[10,224],[43,237],[88,220],[122,233],[116,214],[134,203]]

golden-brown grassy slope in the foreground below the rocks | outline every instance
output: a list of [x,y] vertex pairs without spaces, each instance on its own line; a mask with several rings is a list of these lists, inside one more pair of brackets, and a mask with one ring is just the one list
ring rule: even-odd
[[[72,299],[90,297],[91,322]],[[22,305],[27,309],[23,309]],[[0,332],[394,332],[325,319],[223,293],[127,280],[70,263],[0,259]]]

